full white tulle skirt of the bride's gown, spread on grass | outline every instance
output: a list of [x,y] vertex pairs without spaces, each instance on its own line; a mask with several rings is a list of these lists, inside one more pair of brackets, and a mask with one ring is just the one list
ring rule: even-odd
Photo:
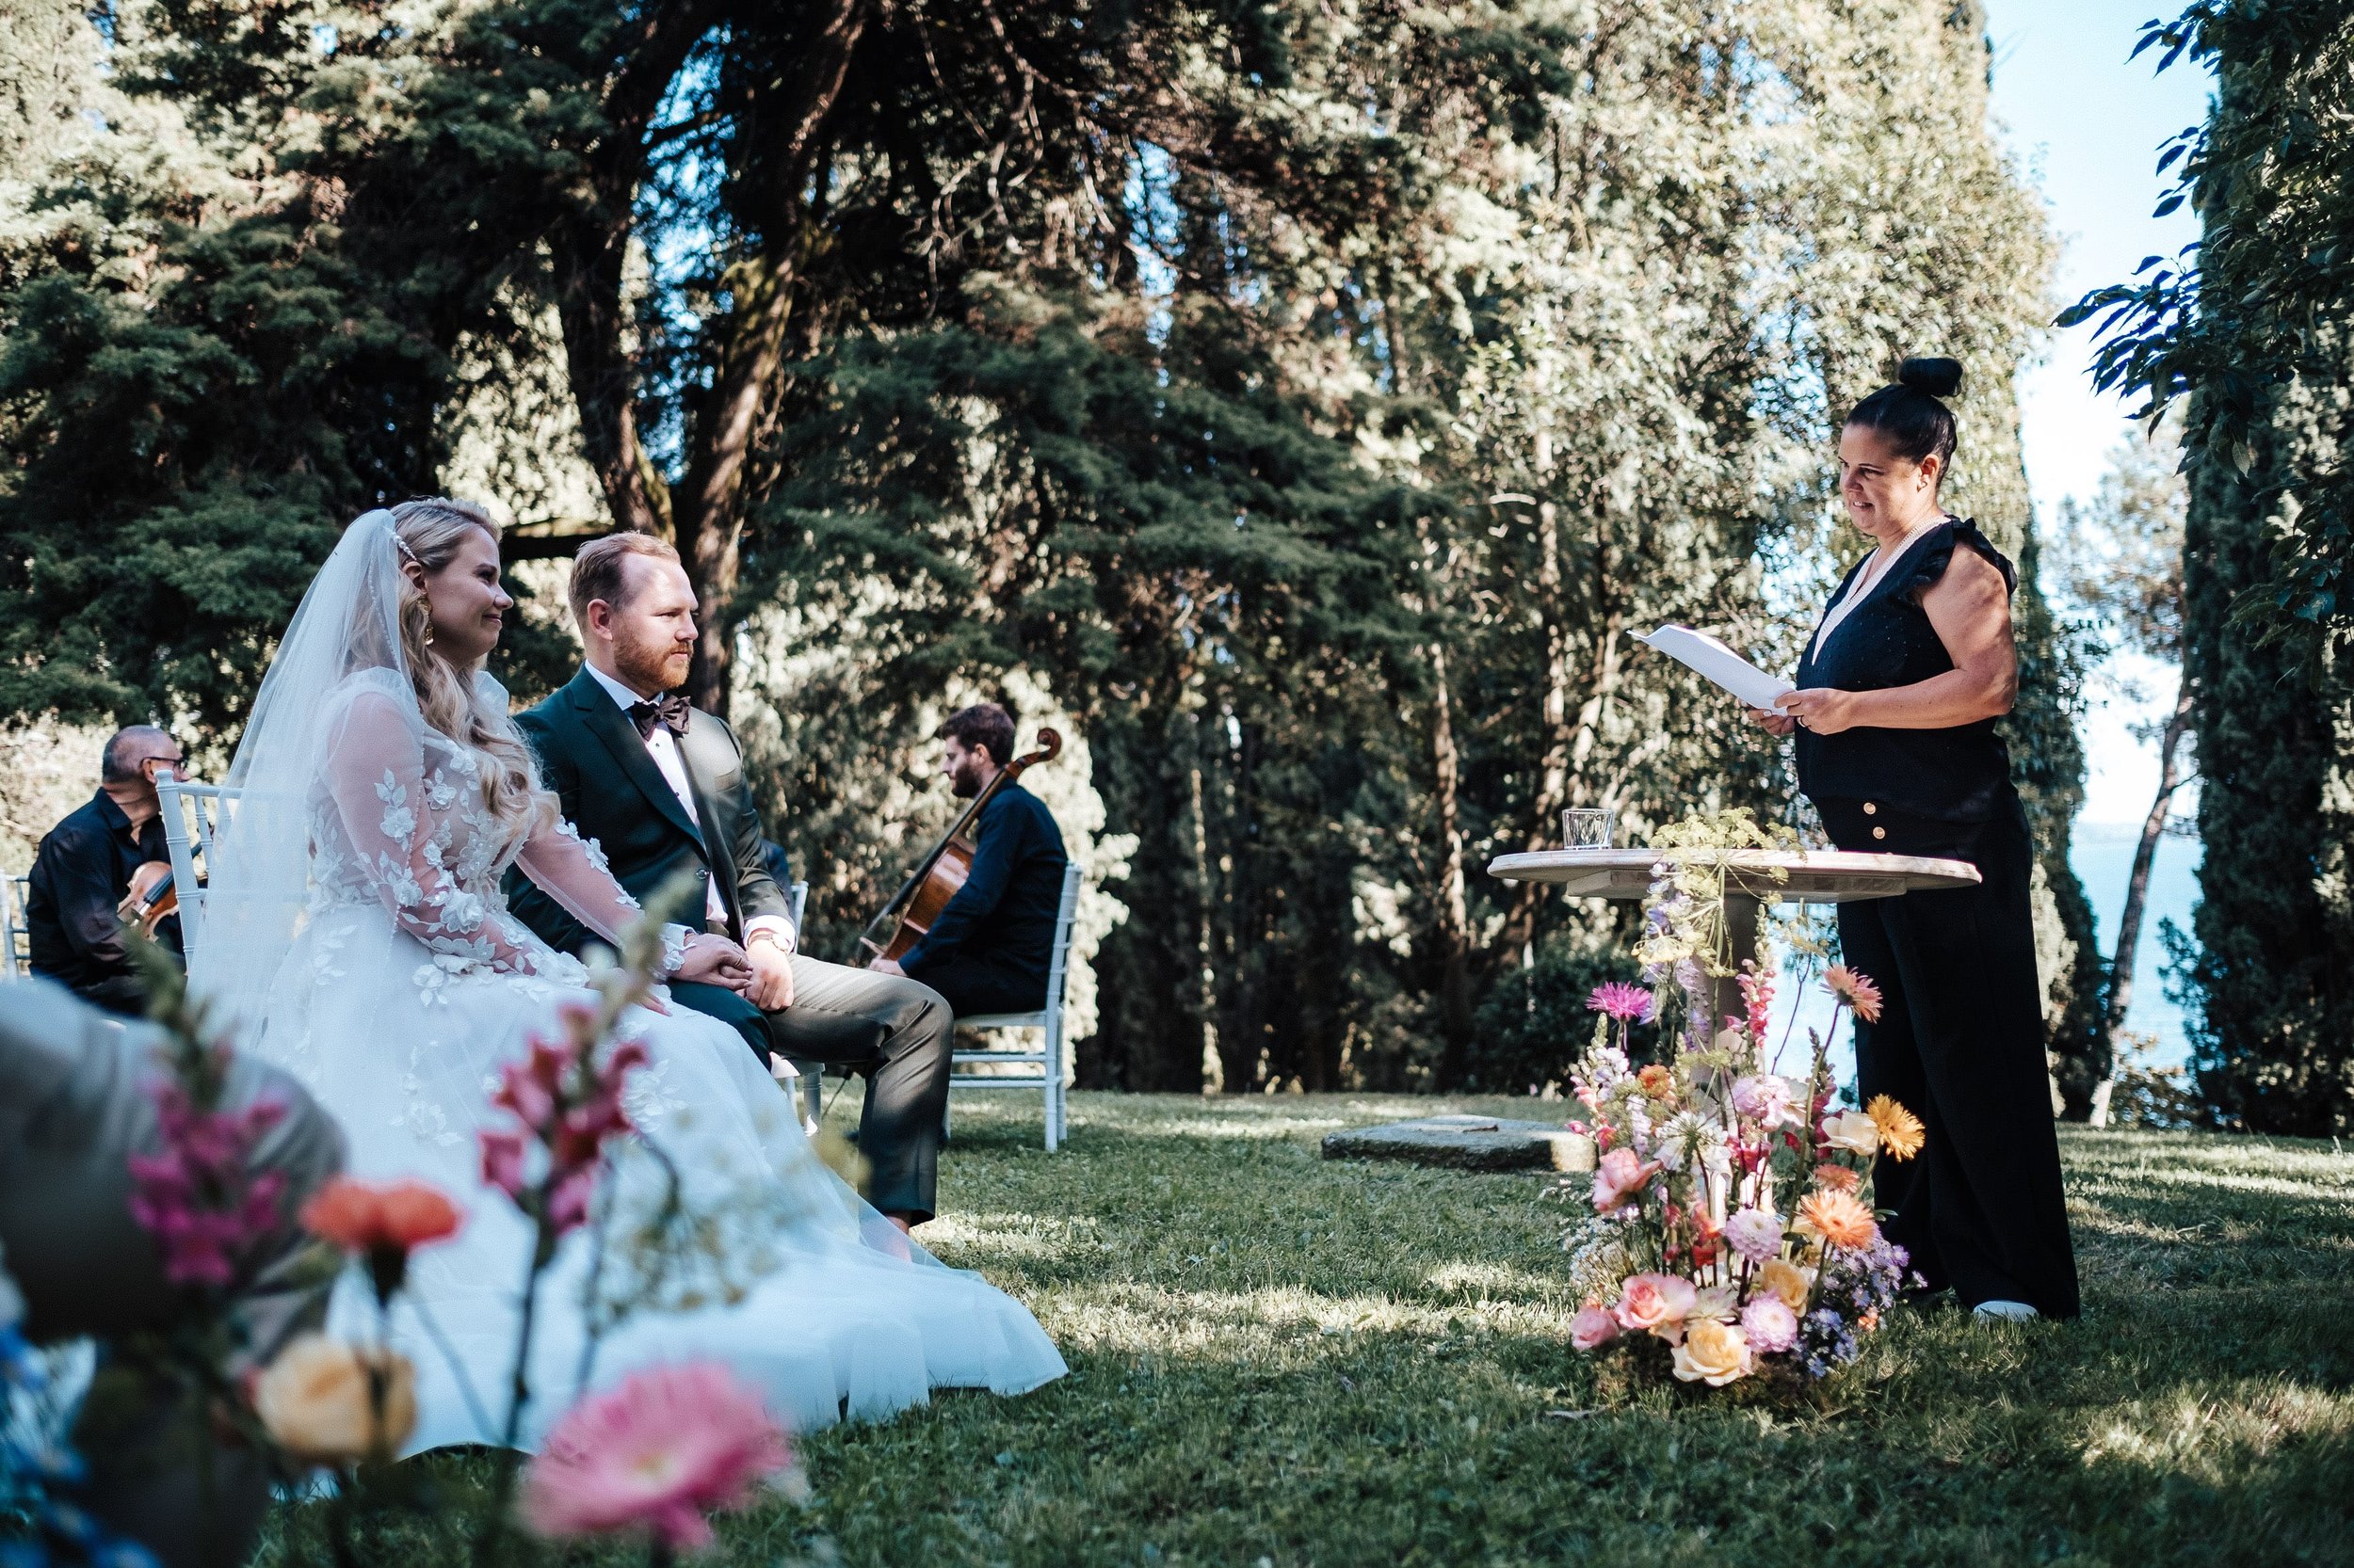
[[[565,965],[558,965],[565,968]],[[593,996],[537,975],[452,975],[377,906],[320,911],[271,994],[259,1055],[344,1123],[348,1172],[417,1177],[466,1208],[414,1255],[391,1323],[346,1276],[330,1330],[388,1330],[417,1366],[407,1450],[494,1443],[513,1387],[530,1222],[480,1180],[499,1067]],[[977,1274],[942,1267],[810,1149],[789,1095],[727,1026],[673,1008],[624,1031],[650,1062],[626,1104],[603,1227],[572,1231],[539,1276],[518,1443],[577,1394],[633,1368],[718,1361],[796,1431],[920,1406],[935,1387],[1022,1394],[1066,1368],[1038,1321]],[[669,1196],[683,1220],[654,1224]],[[603,1243],[593,1236],[603,1234]]]

